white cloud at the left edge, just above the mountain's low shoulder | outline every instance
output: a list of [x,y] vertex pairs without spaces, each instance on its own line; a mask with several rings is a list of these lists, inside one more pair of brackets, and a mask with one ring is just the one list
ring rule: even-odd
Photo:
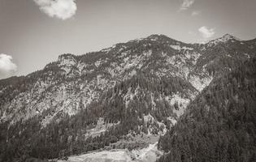
[[11,73],[17,70],[15,63],[11,61],[12,57],[10,55],[0,53],[0,76],[11,75]]

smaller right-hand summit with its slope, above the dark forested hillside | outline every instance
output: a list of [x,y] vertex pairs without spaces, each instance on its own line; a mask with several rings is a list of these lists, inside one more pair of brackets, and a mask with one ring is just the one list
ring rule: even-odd
[[[243,62],[256,54],[255,40],[239,40],[234,36],[210,40],[198,45],[204,53],[198,58],[197,70],[206,70],[210,75],[221,75],[237,66],[237,61]],[[239,63],[238,62],[238,63]]]

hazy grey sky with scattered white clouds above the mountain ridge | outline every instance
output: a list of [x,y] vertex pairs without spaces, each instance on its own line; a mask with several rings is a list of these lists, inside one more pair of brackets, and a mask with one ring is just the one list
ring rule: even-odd
[[256,0],[0,0],[0,79],[152,34],[250,40],[255,16]]

